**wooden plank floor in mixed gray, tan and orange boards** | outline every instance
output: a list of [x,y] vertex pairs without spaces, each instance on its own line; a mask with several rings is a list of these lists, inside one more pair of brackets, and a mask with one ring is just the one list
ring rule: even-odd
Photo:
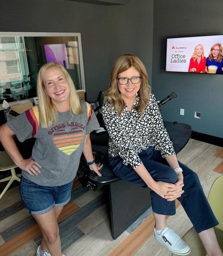
[[[190,140],[178,154],[178,160],[198,174],[206,196],[213,181],[222,176],[222,173],[214,171],[216,168],[222,170],[222,158],[223,148],[196,140]],[[20,201],[18,186],[9,189],[0,200],[1,256],[34,256],[40,243],[41,232],[32,222],[31,227],[25,227],[24,231],[13,236],[13,230],[19,232],[20,227],[24,229],[22,225],[30,223],[30,215]],[[167,222],[183,236],[192,224],[176,202],[176,215],[169,217]],[[134,226],[135,230],[129,231],[131,234],[125,231],[113,240],[107,188],[84,193],[80,183],[75,181],[71,202],[59,219],[63,253],[66,256],[171,256],[153,237],[153,215],[141,222],[137,223],[138,227]]]

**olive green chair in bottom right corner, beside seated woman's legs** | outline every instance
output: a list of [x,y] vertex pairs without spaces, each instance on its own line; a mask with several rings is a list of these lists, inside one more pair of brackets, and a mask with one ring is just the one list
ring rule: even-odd
[[[219,221],[219,225],[214,227],[214,231],[217,236],[220,248],[223,250],[223,176],[218,177],[213,185],[208,195],[208,201],[211,209],[214,212],[215,217]],[[206,255],[203,244],[201,243],[200,237],[192,227],[182,239],[186,241],[191,247],[190,256],[204,256]],[[175,256],[172,253],[172,256]]]

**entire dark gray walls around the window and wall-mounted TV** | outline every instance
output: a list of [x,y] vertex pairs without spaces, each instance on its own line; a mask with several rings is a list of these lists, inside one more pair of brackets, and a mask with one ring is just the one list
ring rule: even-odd
[[[162,107],[165,120],[223,137],[223,76],[164,71],[167,37],[223,34],[223,1],[129,0],[126,6],[100,6],[1,0],[0,10],[1,31],[81,32],[88,100],[106,90],[115,60],[133,53],[145,64],[157,99],[177,93]],[[201,119],[193,117],[194,111],[201,112]]]

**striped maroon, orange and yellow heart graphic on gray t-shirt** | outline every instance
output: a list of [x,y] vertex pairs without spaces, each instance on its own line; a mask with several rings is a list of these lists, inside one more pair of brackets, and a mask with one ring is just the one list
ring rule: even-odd
[[84,133],[78,127],[72,128],[69,132],[58,130],[53,137],[54,145],[69,156],[80,146],[83,139]]

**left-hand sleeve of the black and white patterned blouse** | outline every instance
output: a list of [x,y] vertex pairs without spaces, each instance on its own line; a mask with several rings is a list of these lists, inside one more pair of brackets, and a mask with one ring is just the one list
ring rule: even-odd
[[134,147],[133,142],[127,136],[125,130],[119,125],[119,116],[112,111],[107,110],[107,106],[102,107],[102,115],[104,124],[109,134],[109,146],[123,159],[123,164],[130,164],[133,169],[136,169],[142,161]]

